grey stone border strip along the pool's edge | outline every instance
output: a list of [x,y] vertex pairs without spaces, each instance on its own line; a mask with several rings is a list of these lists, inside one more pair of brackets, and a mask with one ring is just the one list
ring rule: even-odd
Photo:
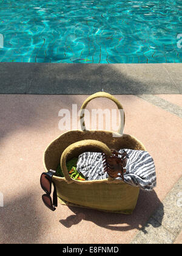
[[0,93],[181,94],[181,63],[0,63]]

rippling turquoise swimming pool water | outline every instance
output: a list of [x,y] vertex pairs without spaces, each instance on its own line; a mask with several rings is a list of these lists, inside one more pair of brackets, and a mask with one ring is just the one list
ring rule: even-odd
[[0,62],[182,62],[181,4],[0,0]]

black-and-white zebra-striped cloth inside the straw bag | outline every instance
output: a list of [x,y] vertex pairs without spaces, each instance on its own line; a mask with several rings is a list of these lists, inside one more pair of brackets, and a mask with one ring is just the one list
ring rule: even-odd
[[[156,186],[155,165],[152,157],[147,151],[132,149],[124,149],[124,151],[129,156],[124,182],[143,190],[152,190]],[[123,149],[119,152],[123,153]],[[102,180],[109,177],[103,170],[102,155],[97,152],[84,152],[79,155],[76,169],[86,177],[86,180]]]

